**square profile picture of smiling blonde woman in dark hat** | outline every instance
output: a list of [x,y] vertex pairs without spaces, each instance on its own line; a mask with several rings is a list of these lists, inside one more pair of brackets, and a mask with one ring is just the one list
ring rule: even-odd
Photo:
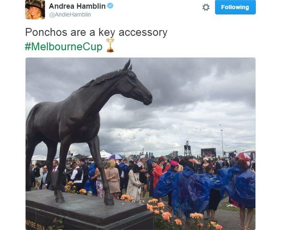
[[43,0],[26,0],[25,1],[25,18],[26,19],[44,19],[45,18],[45,1]]

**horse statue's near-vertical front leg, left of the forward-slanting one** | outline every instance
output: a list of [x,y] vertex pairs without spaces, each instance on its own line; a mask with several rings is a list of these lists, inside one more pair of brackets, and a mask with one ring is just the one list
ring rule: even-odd
[[71,145],[70,136],[64,137],[64,139],[62,139],[62,141],[60,142],[60,162],[58,164],[58,178],[54,188],[56,203],[65,202],[62,196],[62,192],[60,191],[60,188],[61,188],[62,172],[65,169],[67,153],[70,145]]

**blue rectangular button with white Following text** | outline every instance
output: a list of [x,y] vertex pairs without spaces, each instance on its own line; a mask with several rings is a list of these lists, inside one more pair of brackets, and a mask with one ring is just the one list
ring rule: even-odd
[[256,1],[216,0],[216,14],[256,14]]

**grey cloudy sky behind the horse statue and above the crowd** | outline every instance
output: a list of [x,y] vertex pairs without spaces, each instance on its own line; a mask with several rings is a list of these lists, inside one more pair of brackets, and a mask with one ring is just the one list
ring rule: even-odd
[[[38,102],[61,101],[127,61],[26,59],[26,116]],[[100,111],[100,150],[129,155],[143,147],[155,156],[176,150],[182,155],[189,140],[193,155],[208,147],[221,155],[221,129],[225,151],[255,146],[255,59],[132,58],[131,63],[153,102],[145,106],[121,95],[111,97]],[[87,144],[72,144],[70,150],[90,155]],[[47,155],[44,143],[34,155]]]

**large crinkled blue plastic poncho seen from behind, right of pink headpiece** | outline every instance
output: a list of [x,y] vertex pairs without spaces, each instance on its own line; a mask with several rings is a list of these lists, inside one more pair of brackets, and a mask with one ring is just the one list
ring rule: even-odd
[[[210,190],[217,187],[210,178],[185,167],[183,173],[173,177],[172,205],[174,213],[189,217],[190,213],[202,213],[208,208]],[[174,203],[174,204],[173,204]]]

